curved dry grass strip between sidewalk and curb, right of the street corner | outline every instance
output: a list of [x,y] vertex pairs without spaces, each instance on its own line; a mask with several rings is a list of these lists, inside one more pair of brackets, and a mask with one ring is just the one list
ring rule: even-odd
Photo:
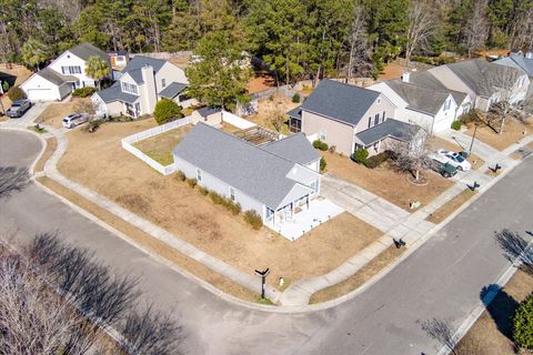
[[390,246],[345,281],[314,293],[309,303],[313,304],[331,301],[356,290],[390,263],[395,261],[404,251],[404,248]]

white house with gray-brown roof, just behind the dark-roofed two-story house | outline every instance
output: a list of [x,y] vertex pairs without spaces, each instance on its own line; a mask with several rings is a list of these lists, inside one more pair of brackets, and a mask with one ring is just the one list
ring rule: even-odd
[[455,120],[457,104],[449,90],[422,87],[411,82],[411,73],[369,87],[382,92],[396,106],[393,116],[420,125],[428,133],[450,129]]

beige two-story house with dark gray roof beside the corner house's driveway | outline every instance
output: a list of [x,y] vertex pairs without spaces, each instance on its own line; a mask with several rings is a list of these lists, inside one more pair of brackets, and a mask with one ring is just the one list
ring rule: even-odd
[[301,131],[334,145],[339,153],[351,155],[364,148],[375,154],[390,148],[391,141],[405,139],[402,134],[398,140],[396,128],[414,131],[411,124],[398,120],[386,123],[395,110],[394,103],[379,91],[324,79],[302,105],[288,115],[293,132]]

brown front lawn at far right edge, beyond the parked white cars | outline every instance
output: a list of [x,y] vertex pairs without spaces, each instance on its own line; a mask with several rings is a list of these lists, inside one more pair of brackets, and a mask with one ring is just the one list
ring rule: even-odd
[[[530,134],[533,126],[531,124],[523,124],[520,121],[509,118],[503,126],[503,133],[499,134],[494,132],[490,126],[481,124],[475,133],[475,139],[492,145],[499,151],[503,151],[505,148],[513,143],[516,143],[525,135]],[[474,133],[474,124],[471,124],[465,132],[469,135]],[[525,133],[525,135],[524,135]],[[475,143],[474,143],[475,144]]]

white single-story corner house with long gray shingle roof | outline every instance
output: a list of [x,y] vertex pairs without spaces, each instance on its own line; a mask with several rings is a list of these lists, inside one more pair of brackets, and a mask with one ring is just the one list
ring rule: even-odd
[[320,155],[303,134],[255,146],[203,122],[173,151],[177,171],[273,227],[320,193]]

